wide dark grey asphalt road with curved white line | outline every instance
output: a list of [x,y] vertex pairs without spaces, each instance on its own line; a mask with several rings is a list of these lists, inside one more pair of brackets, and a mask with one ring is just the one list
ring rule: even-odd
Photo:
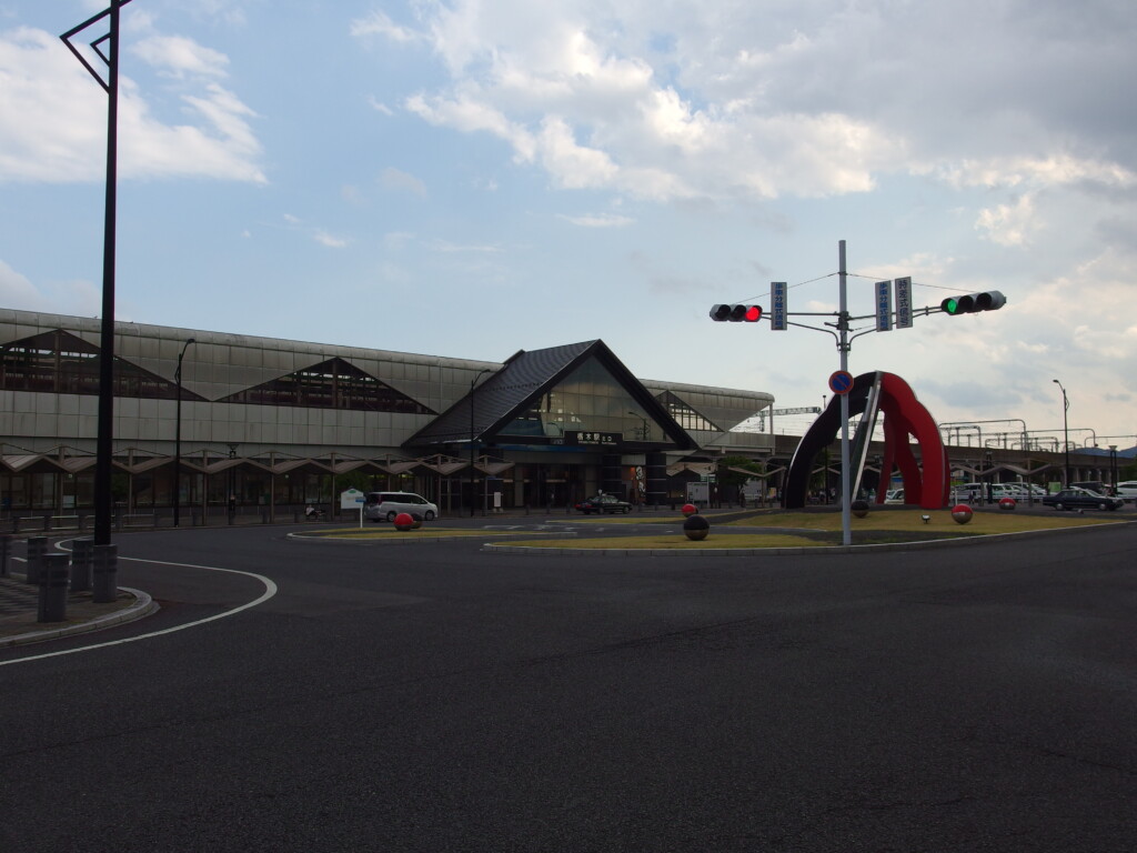
[[706,560],[118,544],[159,614],[0,652],[5,853],[1137,846],[1132,525]]

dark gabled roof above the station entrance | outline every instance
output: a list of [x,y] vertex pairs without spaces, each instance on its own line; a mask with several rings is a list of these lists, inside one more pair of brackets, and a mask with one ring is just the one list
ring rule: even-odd
[[[667,409],[652,396],[601,340],[567,343],[561,347],[520,350],[497,373],[473,392],[412,436],[406,446],[445,445],[471,438],[492,440],[521,416],[542,394],[590,358],[598,359],[624,387],[629,396],[664,426],[677,448],[690,449],[695,442]],[[473,420],[471,420],[471,416]]]

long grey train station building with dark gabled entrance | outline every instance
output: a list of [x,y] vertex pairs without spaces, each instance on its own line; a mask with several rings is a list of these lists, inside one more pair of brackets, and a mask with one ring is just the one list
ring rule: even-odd
[[[93,507],[100,331],[0,310],[3,512]],[[442,513],[601,490],[658,505],[719,459],[774,450],[732,431],[771,395],[640,379],[600,340],[497,363],[121,322],[114,358],[114,498],[131,513],[172,506],[175,481],[194,521],[231,500],[327,506],[360,481]]]

